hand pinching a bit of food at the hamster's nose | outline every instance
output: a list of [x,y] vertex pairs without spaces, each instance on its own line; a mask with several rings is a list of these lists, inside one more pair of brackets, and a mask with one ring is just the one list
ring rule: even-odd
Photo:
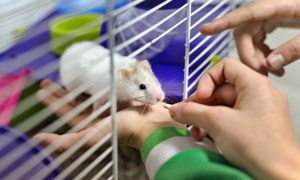
[[173,105],[170,114],[205,129],[227,160],[255,178],[299,178],[299,146],[286,96],[267,77],[237,61],[225,59],[213,66],[201,77],[195,95]]

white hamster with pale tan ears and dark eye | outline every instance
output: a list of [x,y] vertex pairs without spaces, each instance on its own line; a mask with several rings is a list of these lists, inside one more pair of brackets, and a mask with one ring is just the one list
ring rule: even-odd
[[[114,60],[118,101],[135,100],[155,104],[164,100],[165,94],[147,60],[137,61],[117,53]],[[95,82],[85,91],[89,95],[110,86],[109,50],[94,42],[71,45],[61,56],[59,66],[61,83],[68,91],[88,81]],[[108,99],[109,94],[106,94],[97,100],[93,104],[94,110]]]

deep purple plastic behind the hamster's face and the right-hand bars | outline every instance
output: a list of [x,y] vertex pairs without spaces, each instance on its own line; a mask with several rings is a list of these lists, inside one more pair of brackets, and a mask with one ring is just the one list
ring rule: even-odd
[[[193,4],[192,11],[195,11],[198,9],[202,4]],[[192,18],[192,24],[197,22],[199,19],[201,19],[203,16],[205,16],[207,13],[209,13],[215,5],[208,5],[207,7],[203,8],[201,11],[196,13]],[[220,12],[222,12],[224,9],[226,9],[228,5],[222,6],[219,10],[212,13],[208,18],[205,19],[205,22],[209,22],[213,19],[215,19]],[[200,26],[200,25],[199,25]],[[173,38],[173,40],[169,43],[168,46],[159,54],[151,58],[151,64],[153,66],[154,73],[157,75],[158,79],[162,84],[170,84],[173,85],[173,90],[169,93],[167,93],[167,98],[171,99],[172,101],[182,100],[183,95],[183,81],[184,81],[184,62],[185,62],[185,31],[186,31],[186,24],[183,23],[178,27],[177,34]],[[195,27],[191,30],[191,37],[194,37],[197,33],[199,33],[199,28]],[[218,37],[219,35],[212,36],[208,41],[206,41],[202,46],[200,46],[192,55],[190,55],[190,62],[191,60],[194,60],[200,53],[202,53],[206,48]],[[204,35],[200,35],[196,40],[190,43],[190,50],[193,50],[203,39],[206,38]],[[190,67],[190,72],[192,72],[194,69],[198,68],[200,64],[204,62],[205,59],[207,59],[218,46],[226,39],[229,38],[229,33],[224,38],[221,38],[214,46],[212,46],[207,53],[203,54],[203,56],[200,58],[200,60],[195,63],[192,67]],[[227,48],[227,46],[225,47]],[[221,51],[224,49],[221,49],[218,52],[214,52],[214,55],[218,55]],[[222,58],[222,57],[221,57]],[[210,64],[210,62],[206,63],[204,67],[196,73],[191,79],[189,80],[189,84],[196,80],[196,78],[203,72],[203,70]],[[171,85],[163,85],[163,89],[165,92],[170,91]],[[195,89],[197,88],[197,84],[188,92],[188,95],[191,95]],[[168,100],[168,99],[166,99]],[[172,103],[172,102],[171,102]]]

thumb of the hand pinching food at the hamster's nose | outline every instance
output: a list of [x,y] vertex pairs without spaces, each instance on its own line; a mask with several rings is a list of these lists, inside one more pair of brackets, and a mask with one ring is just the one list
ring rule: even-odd
[[171,106],[169,112],[171,117],[182,124],[190,124],[204,128],[210,135],[216,134],[222,129],[228,118],[226,107],[206,106],[194,102],[181,102]]

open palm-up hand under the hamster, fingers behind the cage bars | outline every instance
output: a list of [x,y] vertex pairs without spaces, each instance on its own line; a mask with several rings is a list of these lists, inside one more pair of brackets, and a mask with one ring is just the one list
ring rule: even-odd
[[[56,89],[58,90],[52,93],[48,88],[49,86],[56,86]],[[67,94],[67,91],[59,88],[58,84],[50,80],[43,81],[41,83],[41,87],[42,89],[38,91],[37,97],[45,105],[53,109],[60,117],[65,116],[68,112],[73,110],[78,103],[80,103],[78,100],[77,103],[75,101],[71,101],[70,103],[65,104],[62,108],[57,109],[54,106],[55,102],[62,100]],[[125,107],[126,106],[119,107],[118,109],[120,111],[116,113],[118,143],[121,146],[131,146],[139,149],[144,140],[155,130],[161,127],[171,126],[184,128],[184,125],[172,120],[169,112],[163,108],[163,103],[158,103],[151,106],[148,105],[146,107],[144,105]],[[83,121],[90,114],[91,110],[84,111],[68,121],[68,125],[73,127]],[[88,149],[95,145],[107,134],[112,132],[110,121],[111,117],[109,114],[104,113],[104,115],[89,123],[83,130],[79,132],[63,135],[41,133],[37,134],[34,139],[44,146],[48,146],[58,141],[64,142],[60,143],[56,150],[56,152],[60,153],[68,150],[71,146],[87,136],[89,133],[96,132],[96,135],[89,139],[84,146],[84,149]],[[99,129],[99,127],[102,128]],[[109,142],[107,142],[106,145],[109,145]]]

